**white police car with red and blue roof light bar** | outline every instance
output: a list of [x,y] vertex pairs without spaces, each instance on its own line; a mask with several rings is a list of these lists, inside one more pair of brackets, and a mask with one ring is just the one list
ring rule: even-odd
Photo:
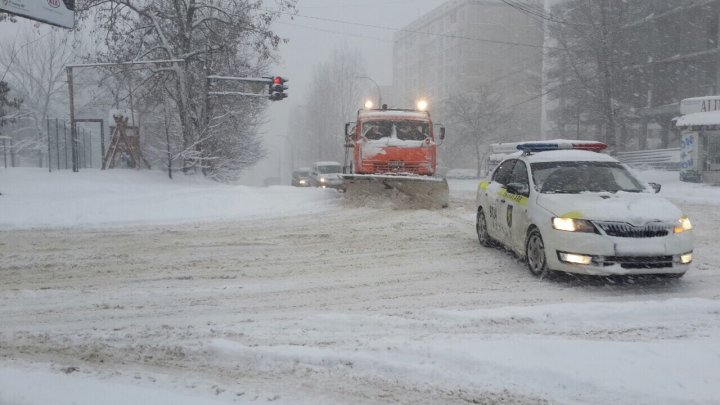
[[477,191],[484,246],[513,250],[538,276],[666,274],[690,268],[692,224],[599,142],[526,143]]

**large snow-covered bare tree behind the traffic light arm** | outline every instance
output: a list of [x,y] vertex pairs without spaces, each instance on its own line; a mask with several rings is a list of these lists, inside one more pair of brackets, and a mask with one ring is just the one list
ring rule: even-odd
[[266,100],[209,95],[237,88],[207,77],[265,74],[281,41],[270,24],[294,3],[276,0],[270,10],[255,0],[85,0],[81,9],[94,10],[95,31],[108,49],[100,58],[182,60],[147,71],[144,94],[169,99],[163,105],[179,124],[182,144],[175,154],[183,170],[232,179],[263,157],[257,127]]

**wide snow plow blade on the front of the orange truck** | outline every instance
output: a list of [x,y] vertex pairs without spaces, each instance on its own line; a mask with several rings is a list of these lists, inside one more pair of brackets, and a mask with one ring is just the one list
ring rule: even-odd
[[354,205],[391,201],[398,208],[445,208],[447,180],[429,176],[344,174],[345,199]]

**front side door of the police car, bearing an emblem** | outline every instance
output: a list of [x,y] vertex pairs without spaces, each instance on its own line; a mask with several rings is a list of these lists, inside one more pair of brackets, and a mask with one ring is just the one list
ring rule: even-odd
[[525,230],[528,227],[527,204],[530,192],[527,165],[522,160],[517,160],[505,187],[505,222],[503,225],[507,235],[506,245],[518,253],[525,249]]

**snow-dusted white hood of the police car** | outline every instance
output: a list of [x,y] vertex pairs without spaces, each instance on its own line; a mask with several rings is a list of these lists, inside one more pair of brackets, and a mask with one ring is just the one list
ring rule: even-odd
[[670,201],[647,193],[539,194],[537,203],[554,215],[596,221],[675,222],[682,211]]

